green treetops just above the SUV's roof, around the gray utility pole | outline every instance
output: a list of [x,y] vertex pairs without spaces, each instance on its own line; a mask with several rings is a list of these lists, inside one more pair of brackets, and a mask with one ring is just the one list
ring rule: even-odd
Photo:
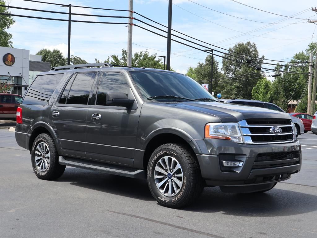
[[[105,62],[116,65],[126,65],[127,54],[128,51],[122,48],[122,54],[120,58],[117,55],[111,55],[108,56],[108,60],[106,60]],[[100,62],[97,59],[95,59],[95,61],[96,63]],[[161,59],[156,59],[156,54],[150,55],[147,50],[144,52],[135,52],[131,59],[131,66],[136,68],[146,67],[153,69],[164,69],[164,63],[161,63]]]

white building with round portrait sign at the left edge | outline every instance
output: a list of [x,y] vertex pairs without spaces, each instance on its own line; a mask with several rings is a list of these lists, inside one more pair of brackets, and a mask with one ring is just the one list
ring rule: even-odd
[[50,63],[42,62],[42,56],[0,46],[0,83],[11,86],[11,93],[23,96],[36,75],[49,70]]

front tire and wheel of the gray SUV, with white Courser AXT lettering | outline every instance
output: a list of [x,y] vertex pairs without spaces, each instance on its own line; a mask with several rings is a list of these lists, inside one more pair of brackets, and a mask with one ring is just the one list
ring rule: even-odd
[[152,153],[147,182],[157,202],[170,208],[191,204],[204,189],[196,156],[183,144],[164,144]]

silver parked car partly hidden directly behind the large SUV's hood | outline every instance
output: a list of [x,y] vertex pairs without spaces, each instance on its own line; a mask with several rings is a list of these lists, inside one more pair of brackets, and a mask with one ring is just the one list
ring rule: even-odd
[[[283,109],[281,109],[277,105],[270,103],[270,102],[262,102],[262,101],[247,100],[247,99],[220,99],[220,101],[225,102],[225,103],[234,103],[234,104],[239,104],[239,105],[267,108],[267,109],[275,110],[278,112],[285,112]],[[291,119],[292,119],[292,122],[296,126],[296,137],[303,134],[305,131],[305,128],[304,128],[304,124],[301,121],[301,119],[299,119],[297,117],[291,117]]]

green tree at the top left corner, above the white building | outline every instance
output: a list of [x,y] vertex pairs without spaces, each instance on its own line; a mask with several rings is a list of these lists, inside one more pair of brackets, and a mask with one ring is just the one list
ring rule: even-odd
[[[0,1],[0,5],[5,5],[5,1]],[[0,7],[0,13],[10,14],[11,12],[6,7]],[[15,21],[12,16],[0,15],[0,46],[13,47],[11,41],[12,34],[6,31],[13,23]]]

